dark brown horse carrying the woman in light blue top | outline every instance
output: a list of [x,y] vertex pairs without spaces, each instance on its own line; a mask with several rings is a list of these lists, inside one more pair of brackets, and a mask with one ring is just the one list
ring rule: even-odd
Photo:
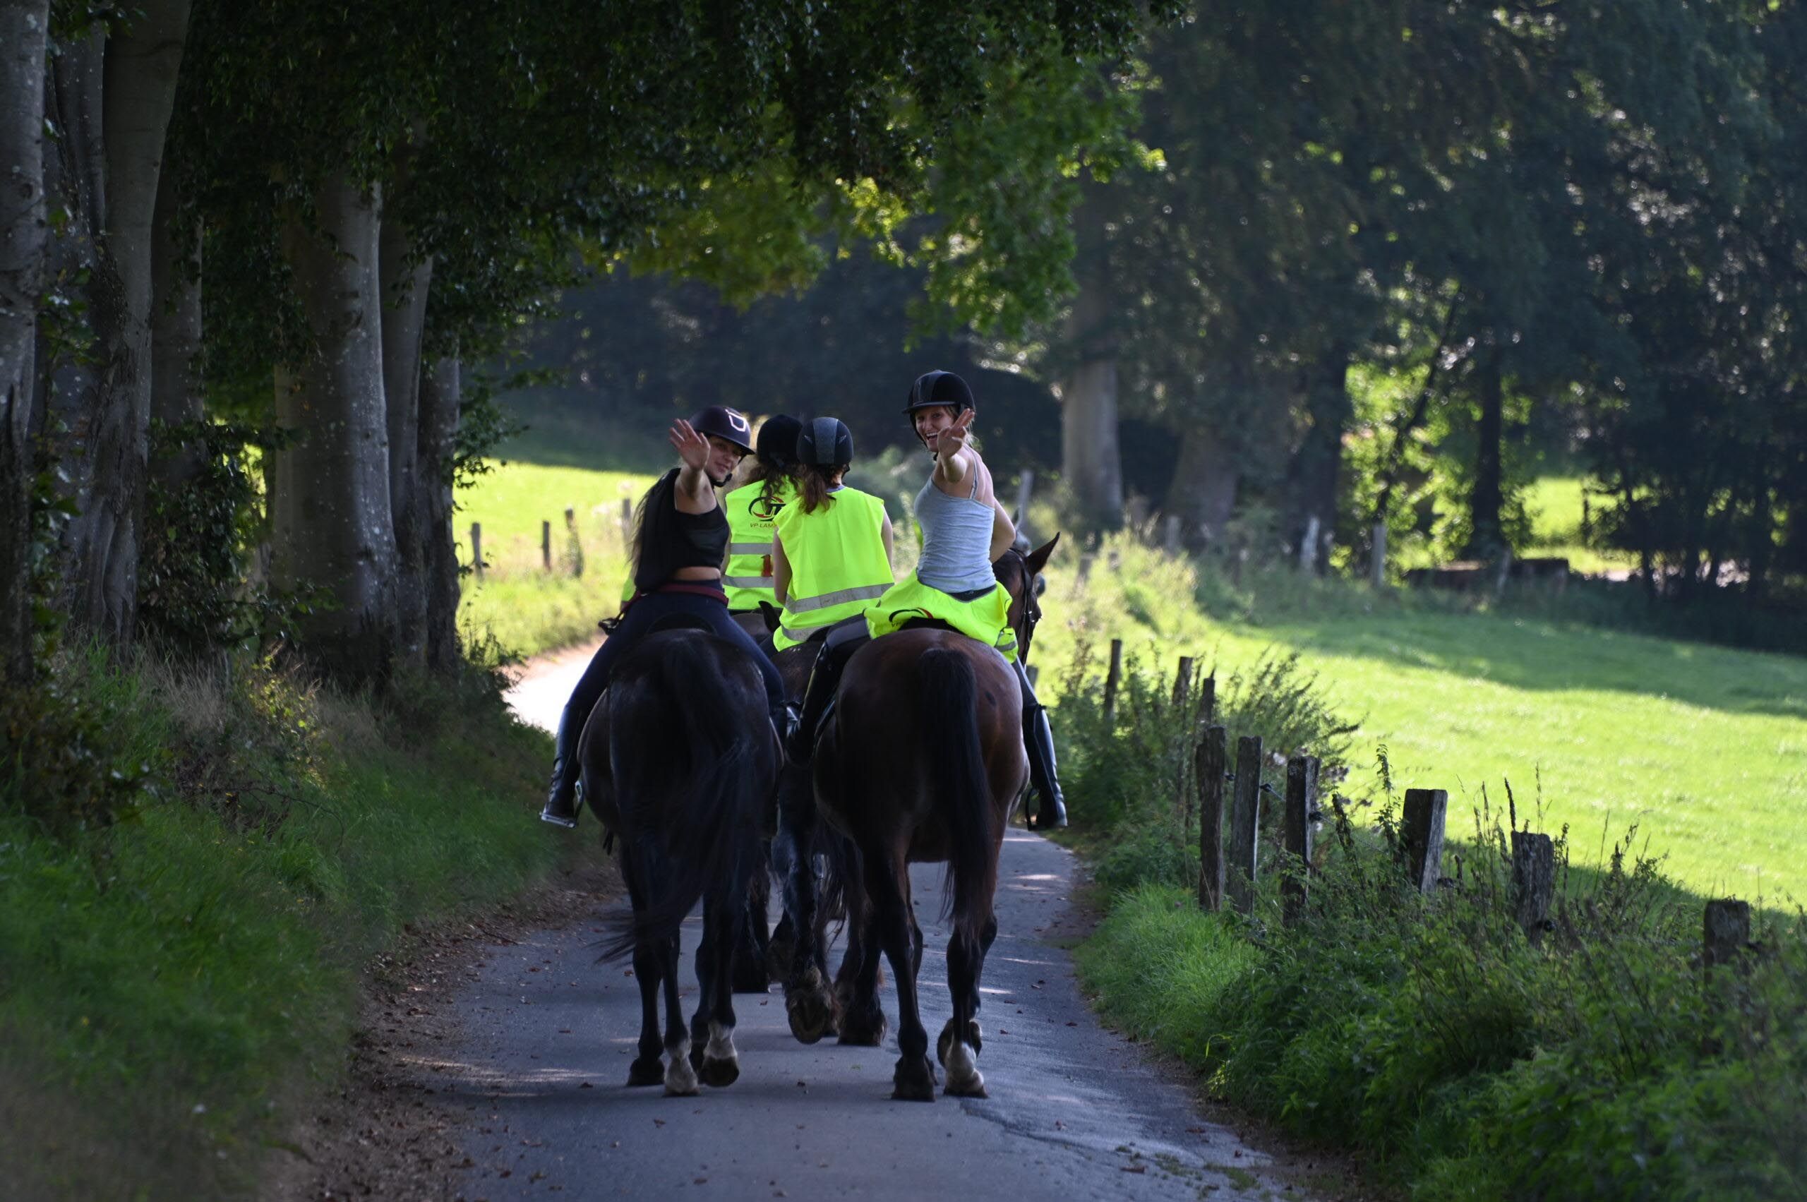
[[[1010,589],[1017,647],[1028,653],[1035,577],[1055,542],[1032,555],[1006,551],[997,578]],[[1023,694],[994,649],[941,627],[873,640],[847,662],[835,709],[815,748],[822,817],[853,844],[842,886],[857,916],[842,978],[849,983],[840,1041],[878,1045],[878,951],[898,987],[898,1099],[931,1101],[934,1068],[916,1003],[922,931],[911,909],[909,864],[945,862],[952,918],[947,983],[954,1016],[936,1043],[947,1092],[985,1097],[976,1056],[979,974],[997,936],[992,895],[1010,810],[1028,781]]]

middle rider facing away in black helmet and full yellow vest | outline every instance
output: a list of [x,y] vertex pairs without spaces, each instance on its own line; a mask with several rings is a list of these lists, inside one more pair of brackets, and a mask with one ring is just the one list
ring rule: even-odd
[[797,501],[784,506],[772,540],[777,651],[802,645],[891,587],[891,517],[878,497],[842,481],[853,466],[853,432],[815,418],[797,436]]

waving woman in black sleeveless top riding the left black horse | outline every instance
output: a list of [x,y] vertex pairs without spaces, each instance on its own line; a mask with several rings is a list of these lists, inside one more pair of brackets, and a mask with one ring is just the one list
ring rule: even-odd
[[[728,616],[721,564],[728,551],[728,517],[716,490],[728,483],[743,455],[754,452],[746,418],[710,405],[690,421],[670,427],[670,445],[681,466],[647,490],[634,521],[631,560],[634,596],[609,638],[591,658],[558,719],[551,790],[540,817],[576,826],[576,743],[589,712],[609,687],[609,672],[627,651],[667,618],[690,618],[748,654],[766,687],[777,730],[786,728],[784,687],[759,643]],[[698,698],[698,703],[707,703]]]

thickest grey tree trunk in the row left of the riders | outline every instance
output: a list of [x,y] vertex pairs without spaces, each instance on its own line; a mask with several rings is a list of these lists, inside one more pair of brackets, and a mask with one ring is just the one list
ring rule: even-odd
[[314,345],[276,392],[293,441],[273,463],[271,569],[286,591],[331,593],[331,607],[298,622],[302,651],[349,681],[387,678],[394,649],[378,210],[334,177],[314,195],[316,226],[291,215],[282,231]]

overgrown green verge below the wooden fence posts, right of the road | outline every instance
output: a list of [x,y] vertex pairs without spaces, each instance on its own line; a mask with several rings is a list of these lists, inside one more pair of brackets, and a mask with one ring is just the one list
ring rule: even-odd
[[[1511,916],[1505,831],[1476,815],[1435,902],[1397,848],[1337,821],[1308,918],[1256,925],[1187,893],[1124,893],[1081,949],[1104,1012],[1281,1126],[1359,1146],[1413,1198],[1749,1198],[1807,1188],[1807,920],[1704,972],[1699,898],[1626,835],[1559,842],[1554,929]],[[1247,938],[1258,931],[1256,938]]]

